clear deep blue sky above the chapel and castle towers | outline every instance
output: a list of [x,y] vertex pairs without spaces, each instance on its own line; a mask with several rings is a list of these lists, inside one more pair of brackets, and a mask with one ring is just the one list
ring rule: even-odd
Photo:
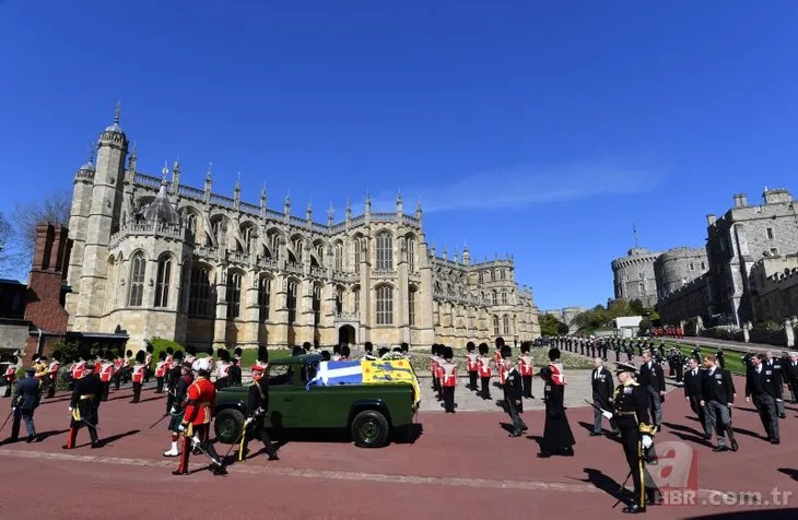
[[[760,7],[756,7],[760,5]],[[513,252],[541,308],[632,246],[795,189],[798,2],[0,1],[0,211],[70,187],[122,103],[140,169],[269,205],[421,198],[429,241]]]

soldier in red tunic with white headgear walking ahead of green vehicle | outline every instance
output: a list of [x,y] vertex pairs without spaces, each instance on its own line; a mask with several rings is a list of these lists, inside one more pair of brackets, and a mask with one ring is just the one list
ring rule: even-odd
[[213,461],[211,470],[214,475],[224,475],[224,469],[216,450],[210,442],[211,418],[213,414],[213,402],[216,399],[216,387],[210,381],[210,362],[208,358],[197,359],[192,366],[197,374],[195,381],[188,387],[187,402],[183,423],[179,429],[183,432],[183,449],[180,453],[180,465],[173,475],[188,474],[188,458],[191,453],[191,446],[197,446],[204,451]]

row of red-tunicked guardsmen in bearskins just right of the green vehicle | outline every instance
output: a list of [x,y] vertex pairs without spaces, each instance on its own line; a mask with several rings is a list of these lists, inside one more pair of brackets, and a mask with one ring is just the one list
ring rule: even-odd
[[[509,357],[502,356],[502,347],[505,346],[504,339],[496,338],[495,352],[490,355],[486,343],[480,343],[479,347],[473,342],[466,345],[466,371],[469,382],[467,387],[477,392],[483,400],[491,399],[491,379],[494,370],[498,376],[500,387],[504,387],[507,376],[513,368],[517,368],[521,379],[521,394],[527,399],[535,399],[532,394],[532,376],[535,367],[530,354],[531,343],[524,342],[520,345],[520,356],[514,365]],[[477,351],[477,352],[474,352]],[[437,392],[438,401],[443,401],[446,413],[455,413],[455,388],[457,387],[457,364],[454,361],[454,350],[450,346],[433,344],[430,355],[430,373],[432,374],[432,388]],[[478,381],[481,387],[478,386]],[[523,409],[520,410],[523,411]]]

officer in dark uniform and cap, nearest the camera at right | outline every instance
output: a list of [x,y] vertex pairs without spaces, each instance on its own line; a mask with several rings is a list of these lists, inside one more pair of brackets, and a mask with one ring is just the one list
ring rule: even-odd
[[619,385],[612,395],[611,416],[621,430],[621,444],[634,483],[634,498],[623,512],[636,515],[646,511],[646,501],[654,493],[646,489],[644,452],[654,444],[655,428],[648,418],[648,391],[634,380],[635,367],[625,363],[617,365]]

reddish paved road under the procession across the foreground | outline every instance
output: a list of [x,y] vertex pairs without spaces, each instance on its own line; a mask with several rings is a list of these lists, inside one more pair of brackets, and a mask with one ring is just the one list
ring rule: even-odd
[[[741,390],[742,381],[736,383]],[[120,395],[127,398],[129,391],[112,397]],[[683,439],[697,448],[699,486],[704,489],[700,501],[719,499],[712,498],[709,491],[761,492],[763,500],[771,499],[773,488],[798,491],[795,405],[788,405],[788,418],[781,422],[783,444],[771,446],[758,437],[762,425],[752,406],[740,403],[734,417],[740,451],[714,453],[692,432],[697,423],[685,417],[688,406],[678,395],[669,394],[666,427],[657,441]],[[153,397],[144,392],[145,399]],[[38,430],[57,435],[40,444],[0,447],[0,483],[3,489],[12,489],[14,518],[142,518],[183,516],[181,510],[186,516],[251,518],[266,508],[279,518],[483,518],[519,511],[529,517],[559,512],[561,518],[621,515],[622,506],[611,509],[615,498],[610,494],[627,472],[621,447],[587,436],[579,423],[591,422],[589,409],[568,411],[577,437],[574,458],[537,459],[535,440],[508,438],[500,427],[505,416],[498,413],[422,413],[423,434],[412,445],[363,450],[332,439],[294,439],[282,447],[277,462],[261,456],[231,466],[226,477],[207,471],[175,477],[171,471],[176,461],[161,457],[168,446],[164,423],[148,429],[163,411],[162,398],[139,404],[128,399],[104,403],[102,434],[112,440],[99,450],[60,449],[68,426],[67,405],[57,399],[37,411]],[[526,421],[531,434],[540,435],[542,413],[527,413]],[[86,432],[80,435],[79,446],[87,442]],[[219,448],[226,451],[226,446]],[[192,461],[192,468],[202,468],[201,458]],[[202,497],[180,498],[183,492],[197,493],[193,489],[201,489]],[[86,499],[118,506],[97,510],[84,505]],[[798,498],[793,497],[789,505],[798,507]],[[660,506],[649,508],[645,518],[736,511],[756,518],[765,509],[764,505]],[[794,518],[798,515],[796,509],[791,512]]]

